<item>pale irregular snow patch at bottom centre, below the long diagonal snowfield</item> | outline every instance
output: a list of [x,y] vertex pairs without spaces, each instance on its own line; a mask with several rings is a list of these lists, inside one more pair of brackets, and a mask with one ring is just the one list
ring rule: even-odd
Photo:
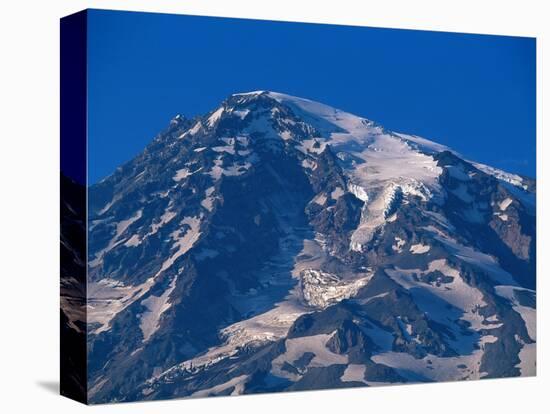
[[291,381],[298,380],[300,375],[286,371],[282,368],[285,363],[292,365],[306,352],[315,354],[313,359],[307,364],[307,368],[347,364],[347,355],[336,354],[326,346],[326,343],[334,334],[335,332],[285,340],[286,351],[271,362],[271,373],[277,377],[288,378]]

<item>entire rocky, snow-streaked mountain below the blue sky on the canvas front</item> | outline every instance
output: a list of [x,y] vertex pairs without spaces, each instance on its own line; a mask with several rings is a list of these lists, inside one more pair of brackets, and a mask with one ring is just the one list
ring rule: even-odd
[[88,194],[89,400],[534,375],[535,184],[284,94]]

